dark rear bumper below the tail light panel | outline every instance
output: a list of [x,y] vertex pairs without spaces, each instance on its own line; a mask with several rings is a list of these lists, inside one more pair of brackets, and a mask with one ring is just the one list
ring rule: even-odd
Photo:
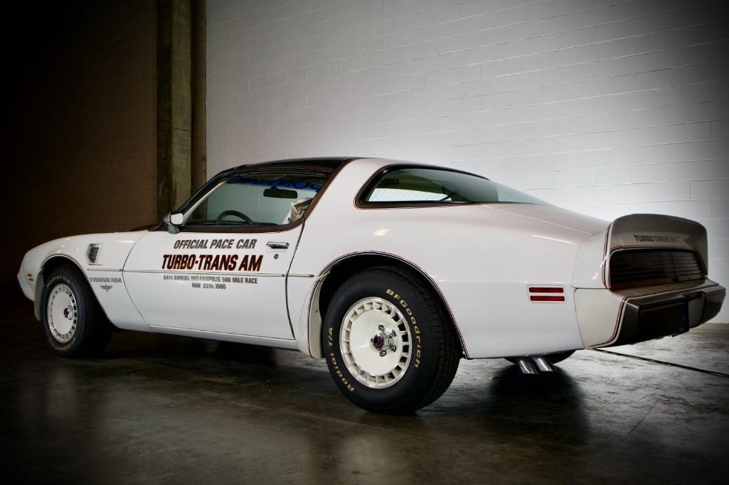
[[635,344],[682,334],[714,318],[725,295],[725,288],[706,280],[695,288],[625,297],[621,301],[620,330],[610,345]]

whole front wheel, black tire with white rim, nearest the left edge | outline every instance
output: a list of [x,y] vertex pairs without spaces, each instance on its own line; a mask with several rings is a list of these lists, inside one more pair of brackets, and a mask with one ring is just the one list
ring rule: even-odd
[[[54,304],[63,301],[68,309],[59,315]],[[75,267],[58,267],[45,283],[42,319],[48,343],[63,357],[90,357],[104,352],[112,336],[112,324],[99,307],[85,277]],[[63,309],[61,309],[63,311]],[[66,326],[56,321],[69,318]],[[59,318],[60,317],[60,318]],[[74,323],[71,324],[71,321]]]

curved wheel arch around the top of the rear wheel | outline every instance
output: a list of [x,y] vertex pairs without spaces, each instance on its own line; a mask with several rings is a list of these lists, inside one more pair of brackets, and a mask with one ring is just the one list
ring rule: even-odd
[[461,351],[464,353],[466,358],[468,358],[466,345],[463,341],[463,336],[461,336],[458,323],[456,323],[456,318],[453,317],[453,312],[451,311],[451,307],[448,305],[448,301],[445,300],[445,296],[443,296],[443,293],[440,291],[440,288],[438,288],[434,280],[421,267],[418,267],[418,265],[414,264],[412,261],[408,261],[407,259],[394,254],[375,251],[351,253],[340,256],[338,259],[335,259],[328,264],[327,267],[319,273],[319,277],[317,278],[318,282],[316,283],[309,303],[309,354],[313,358],[324,358],[324,352],[321,350],[321,328],[324,322],[324,315],[326,315],[332,296],[334,296],[339,285],[354,272],[362,269],[382,266],[404,269],[418,277],[422,283],[432,289],[441,307],[443,307],[446,317],[451,325],[453,325],[453,328],[456,329],[456,334],[458,334],[459,342],[461,344]]

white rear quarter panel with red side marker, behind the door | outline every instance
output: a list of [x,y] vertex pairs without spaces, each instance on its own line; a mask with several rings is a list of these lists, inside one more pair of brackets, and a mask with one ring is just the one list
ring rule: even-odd
[[[332,182],[305,221],[292,273],[320,275],[351,253],[395,255],[422,269],[443,293],[470,358],[583,347],[570,282],[584,232],[516,216],[498,204],[356,208],[354,194],[381,166],[353,162]],[[300,320],[295,328],[307,328],[314,283],[289,278],[289,312],[294,323]],[[566,301],[531,302],[529,285],[564,286]],[[297,338],[307,336],[300,331]]]

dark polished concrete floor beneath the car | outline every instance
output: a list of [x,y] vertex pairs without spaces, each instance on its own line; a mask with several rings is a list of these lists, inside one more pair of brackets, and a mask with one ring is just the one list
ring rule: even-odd
[[416,415],[386,417],[352,406],[323,361],[297,352],[125,332],[114,335],[103,359],[66,360],[46,346],[28,301],[6,298],[4,308],[6,479],[461,484],[729,477],[729,326],[612,350],[624,355],[577,352],[551,376],[521,376],[505,360],[462,360],[443,398]]

